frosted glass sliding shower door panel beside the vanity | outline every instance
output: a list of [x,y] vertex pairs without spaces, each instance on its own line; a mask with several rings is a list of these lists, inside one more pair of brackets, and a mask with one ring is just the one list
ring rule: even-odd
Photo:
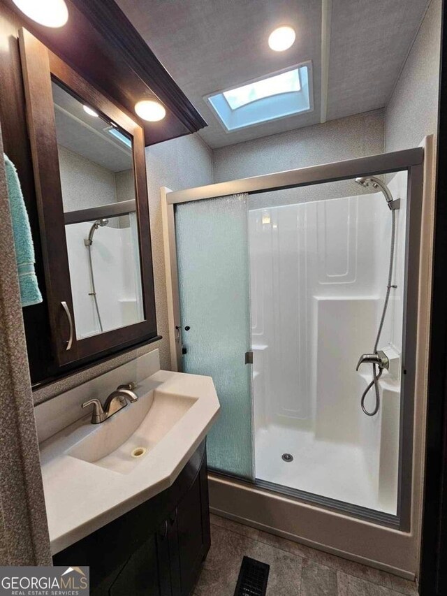
[[175,224],[183,370],[210,375],[221,404],[208,463],[252,478],[247,196],[182,203]]

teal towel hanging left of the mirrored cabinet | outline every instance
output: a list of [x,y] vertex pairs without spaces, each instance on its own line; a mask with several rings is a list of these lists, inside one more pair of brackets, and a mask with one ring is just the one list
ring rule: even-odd
[[3,154],[8,185],[9,205],[13,221],[15,260],[19,273],[20,299],[22,307],[42,302],[36,272],[34,270],[34,245],[31,237],[27,208],[23,200],[22,189],[17,170],[7,155]]

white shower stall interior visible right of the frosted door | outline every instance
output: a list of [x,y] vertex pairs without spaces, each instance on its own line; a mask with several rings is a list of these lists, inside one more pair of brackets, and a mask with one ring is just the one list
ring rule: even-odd
[[[407,178],[388,175],[392,210],[355,179],[249,201],[256,481],[388,523],[399,513]],[[378,398],[372,365],[358,365],[377,349]]]

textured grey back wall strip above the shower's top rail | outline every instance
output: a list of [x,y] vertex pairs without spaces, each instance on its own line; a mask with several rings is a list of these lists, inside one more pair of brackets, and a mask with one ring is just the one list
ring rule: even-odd
[[383,153],[384,110],[222,147],[213,152],[214,182]]

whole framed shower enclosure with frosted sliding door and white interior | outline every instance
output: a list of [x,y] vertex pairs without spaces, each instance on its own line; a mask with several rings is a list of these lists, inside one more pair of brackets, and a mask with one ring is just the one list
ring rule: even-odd
[[406,150],[166,194],[171,355],[214,380],[215,472],[409,530],[422,164]]

